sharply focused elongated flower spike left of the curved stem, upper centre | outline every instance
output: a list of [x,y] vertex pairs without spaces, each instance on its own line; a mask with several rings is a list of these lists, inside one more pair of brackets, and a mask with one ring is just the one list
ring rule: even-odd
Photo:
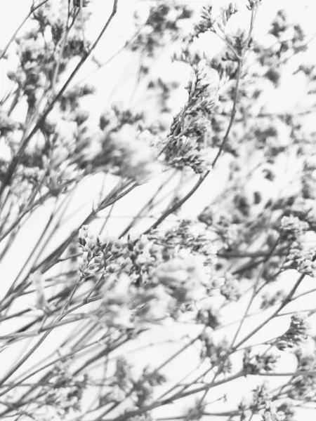
[[189,166],[195,173],[203,173],[211,163],[205,156],[205,144],[210,116],[218,102],[215,73],[202,62],[195,68],[195,80],[188,86],[189,98],[173,120],[166,143],[164,153],[170,166]]

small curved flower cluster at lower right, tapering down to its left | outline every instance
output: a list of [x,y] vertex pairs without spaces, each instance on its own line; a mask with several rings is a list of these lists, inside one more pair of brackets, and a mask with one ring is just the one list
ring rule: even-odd
[[301,344],[308,338],[308,329],[308,316],[304,313],[294,314],[291,316],[289,329],[277,340],[275,346],[284,350]]

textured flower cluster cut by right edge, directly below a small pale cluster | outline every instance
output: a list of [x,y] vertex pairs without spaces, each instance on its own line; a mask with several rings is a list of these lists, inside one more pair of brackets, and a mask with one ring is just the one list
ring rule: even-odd
[[305,249],[298,243],[294,242],[289,254],[284,262],[284,267],[289,269],[296,269],[299,273],[308,276],[316,276],[315,249]]

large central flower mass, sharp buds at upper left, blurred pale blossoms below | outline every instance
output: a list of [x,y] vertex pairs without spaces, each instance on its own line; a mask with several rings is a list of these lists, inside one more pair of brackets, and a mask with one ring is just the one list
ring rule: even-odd
[[84,226],[79,247],[84,252],[79,260],[81,276],[103,274],[99,314],[108,326],[162,321],[215,288],[211,276],[216,250],[207,233],[189,221],[165,234],[153,232],[135,241],[101,241]]

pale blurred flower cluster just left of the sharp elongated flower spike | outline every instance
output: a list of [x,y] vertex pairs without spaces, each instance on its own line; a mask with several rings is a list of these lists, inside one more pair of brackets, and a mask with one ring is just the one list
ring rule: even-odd
[[143,114],[129,109],[105,111],[92,135],[83,126],[77,145],[79,166],[86,173],[110,172],[142,184],[162,171],[156,136],[145,128]]

